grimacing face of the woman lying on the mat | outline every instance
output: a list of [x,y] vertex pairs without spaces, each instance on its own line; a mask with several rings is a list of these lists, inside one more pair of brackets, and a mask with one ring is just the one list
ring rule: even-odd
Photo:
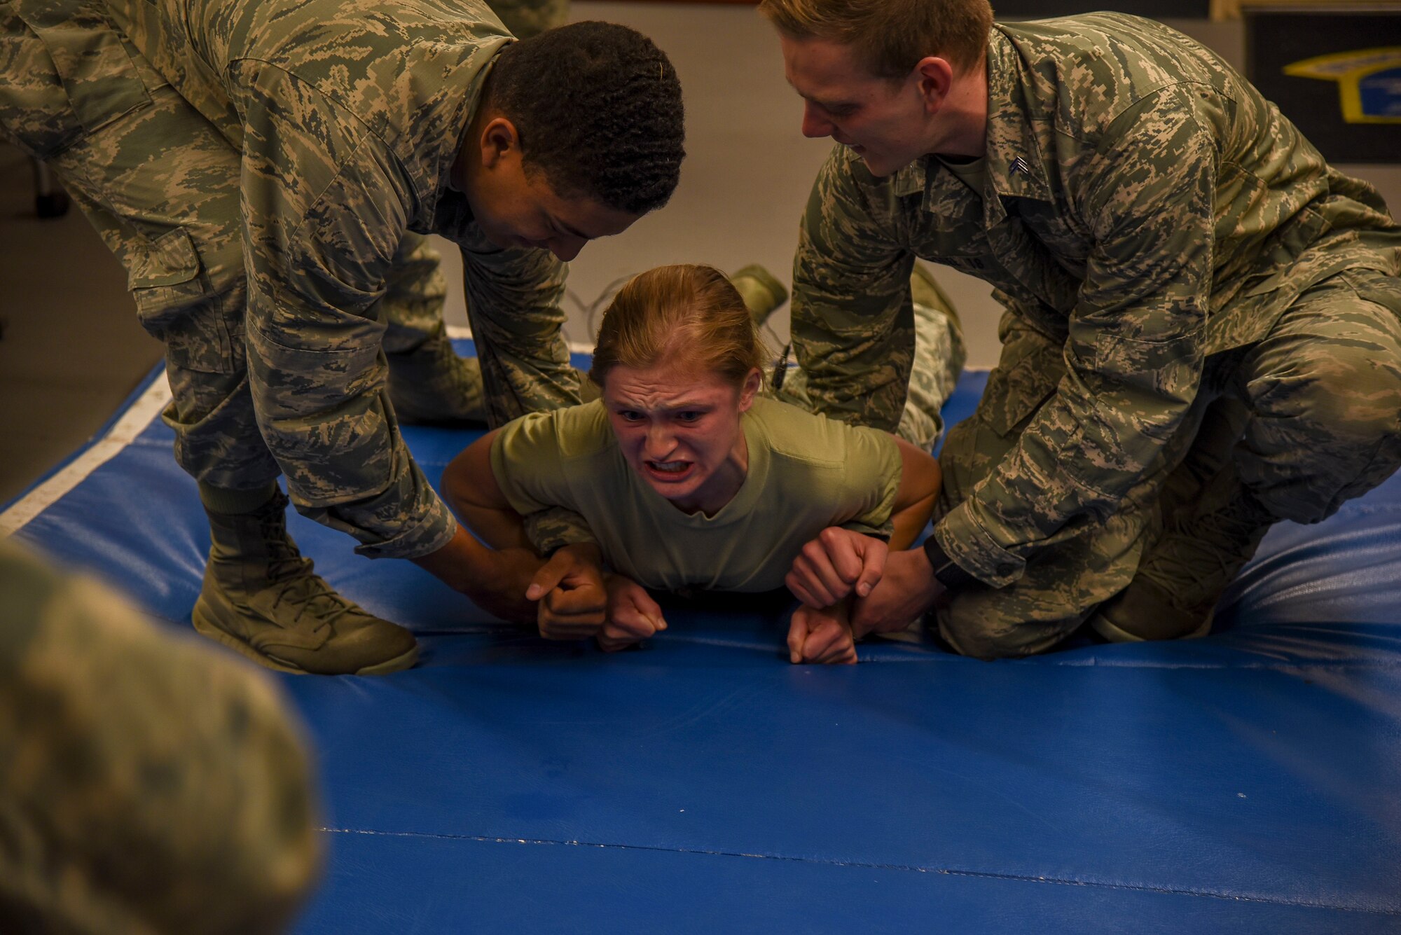
[[608,421],[628,465],[684,512],[713,514],[748,472],[740,414],[754,405],[759,371],[736,386],[675,358],[614,367],[604,381]]

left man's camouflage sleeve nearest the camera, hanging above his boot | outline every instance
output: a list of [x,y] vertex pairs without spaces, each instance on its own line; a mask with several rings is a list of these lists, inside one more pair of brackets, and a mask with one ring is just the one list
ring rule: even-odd
[[366,556],[427,554],[457,522],[399,437],[374,311],[413,193],[353,113],[280,69],[238,67],[258,426],[300,512]]

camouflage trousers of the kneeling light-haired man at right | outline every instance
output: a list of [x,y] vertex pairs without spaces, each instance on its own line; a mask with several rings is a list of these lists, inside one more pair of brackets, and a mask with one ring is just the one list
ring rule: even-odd
[[[976,413],[948,431],[937,516],[1006,455],[1066,374],[1062,347],[1007,312],[1002,358]],[[1163,504],[1213,480],[1276,519],[1318,522],[1401,465],[1401,279],[1345,272],[1304,291],[1259,343],[1213,354],[1182,428],[1103,521],[1072,522],[1006,588],[979,582],[934,612],[982,658],[1052,648],[1133,578]],[[1223,474],[1213,477],[1213,474]]]

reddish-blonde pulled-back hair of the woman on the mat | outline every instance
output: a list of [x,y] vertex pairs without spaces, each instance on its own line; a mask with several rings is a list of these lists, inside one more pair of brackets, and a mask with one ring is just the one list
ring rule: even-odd
[[637,273],[614,297],[598,329],[588,379],[600,388],[618,365],[679,358],[743,385],[769,351],[740,293],[710,266],[678,263]]

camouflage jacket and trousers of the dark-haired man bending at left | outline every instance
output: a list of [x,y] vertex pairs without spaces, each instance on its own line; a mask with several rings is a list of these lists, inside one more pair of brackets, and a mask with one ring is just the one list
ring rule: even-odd
[[0,127],[129,270],[196,479],[254,490],[280,469],[301,512],[368,556],[447,543],[381,349],[395,309],[436,328],[430,232],[462,249],[492,420],[577,402],[563,263],[489,244],[447,185],[507,42],[476,0],[0,4]]

